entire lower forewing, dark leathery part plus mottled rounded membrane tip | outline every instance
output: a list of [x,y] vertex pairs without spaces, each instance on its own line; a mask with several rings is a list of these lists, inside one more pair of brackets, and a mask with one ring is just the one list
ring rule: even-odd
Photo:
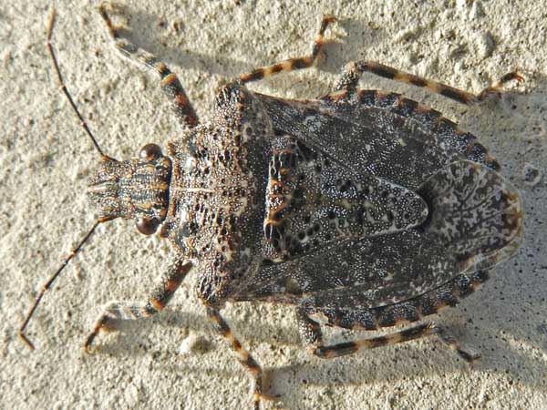
[[420,227],[337,241],[294,261],[266,266],[234,299],[362,312],[416,298],[461,274],[490,269],[517,251],[521,200],[498,173],[457,161],[436,172],[418,192],[429,207]]

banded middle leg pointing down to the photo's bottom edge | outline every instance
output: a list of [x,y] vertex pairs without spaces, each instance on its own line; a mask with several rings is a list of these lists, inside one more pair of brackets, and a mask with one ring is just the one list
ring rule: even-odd
[[243,366],[253,374],[254,388],[253,388],[253,404],[254,410],[260,409],[260,402],[263,398],[270,398],[263,394],[263,371],[259,364],[253,359],[253,356],[247,352],[242,343],[236,339],[230,330],[230,326],[221,316],[218,309],[211,307],[207,308],[207,316],[212,321],[214,329],[217,333],[220,333],[224,339],[226,339],[232,346],[232,349],[237,357],[237,360]]

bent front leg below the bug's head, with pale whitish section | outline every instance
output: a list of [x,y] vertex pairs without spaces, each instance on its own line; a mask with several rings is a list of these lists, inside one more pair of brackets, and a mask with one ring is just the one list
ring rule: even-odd
[[104,313],[98,317],[98,321],[89,333],[84,344],[86,350],[93,343],[101,329],[108,329],[116,320],[138,320],[158,313],[167,305],[174,292],[181,285],[182,280],[191,269],[191,263],[176,261],[163,275],[161,283],[152,292],[147,302],[110,302]]

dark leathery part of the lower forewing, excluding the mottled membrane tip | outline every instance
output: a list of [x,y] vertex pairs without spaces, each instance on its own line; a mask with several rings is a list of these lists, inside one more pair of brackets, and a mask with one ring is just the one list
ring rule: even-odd
[[448,256],[433,236],[416,230],[336,241],[264,267],[238,294],[249,300],[368,309],[449,281],[458,268]]

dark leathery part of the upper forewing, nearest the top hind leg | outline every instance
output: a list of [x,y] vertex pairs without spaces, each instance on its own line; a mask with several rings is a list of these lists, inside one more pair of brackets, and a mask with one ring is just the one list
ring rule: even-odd
[[398,94],[361,90],[313,101],[259,97],[279,132],[321,149],[356,172],[409,190],[458,159],[499,168],[477,138],[438,111]]

